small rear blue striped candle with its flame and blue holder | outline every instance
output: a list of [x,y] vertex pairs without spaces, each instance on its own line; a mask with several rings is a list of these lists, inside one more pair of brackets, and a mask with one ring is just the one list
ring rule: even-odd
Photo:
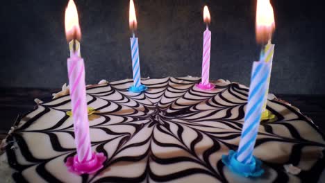
[[141,85],[141,74],[140,74],[140,59],[139,59],[139,44],[138,37],[135,37],[134,31],[137,29],[137,17],[135,16],[135,8],[133,0],[130,0],[129,9],[129,26],[132,30],[131,42],[131,58],[132,58],[132,69],[133,69],[133,86],[128,90],[131,92],[142,92],[147,89],[146,86]]

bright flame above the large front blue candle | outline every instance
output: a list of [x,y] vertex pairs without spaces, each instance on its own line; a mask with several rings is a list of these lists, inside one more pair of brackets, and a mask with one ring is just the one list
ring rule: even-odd
[[256,6],[256,42],[271,40],[275,29],[274,12],[269,0],[258,0]]

